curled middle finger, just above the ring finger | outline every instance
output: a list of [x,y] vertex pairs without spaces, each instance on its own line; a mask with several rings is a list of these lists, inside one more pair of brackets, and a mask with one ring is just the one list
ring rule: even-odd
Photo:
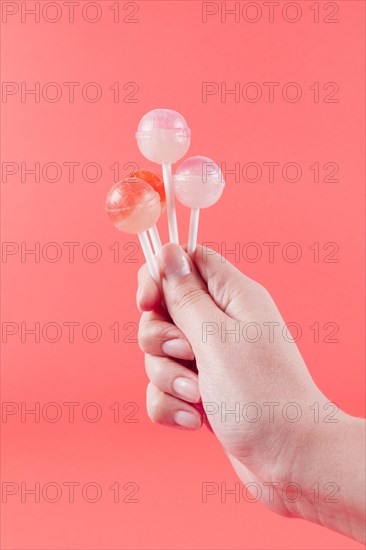
[[194,354],[186,337],[167,319],[168,314],[162,310],[142,314],[138,334],[140,348],[149,355],[169,355],[192,361]]

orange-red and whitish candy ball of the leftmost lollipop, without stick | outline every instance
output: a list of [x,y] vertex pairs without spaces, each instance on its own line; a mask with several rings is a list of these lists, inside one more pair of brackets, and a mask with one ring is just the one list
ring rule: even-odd
[[159,219],[160,195],[146,181],[126,179],[113,185],[105,209],[117,229],[135,235]]

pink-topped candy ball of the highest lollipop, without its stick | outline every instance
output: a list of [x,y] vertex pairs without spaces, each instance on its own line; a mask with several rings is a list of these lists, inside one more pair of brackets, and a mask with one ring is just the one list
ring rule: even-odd
[[140,120],[136,139],[145,158],[158,164],[173,164],[188,151],[191,131],[176,111],[155,109]]

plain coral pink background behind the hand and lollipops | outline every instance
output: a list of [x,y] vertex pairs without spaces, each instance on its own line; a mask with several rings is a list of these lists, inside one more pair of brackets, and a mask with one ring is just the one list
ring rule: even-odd
[[[11,4],[21,7],[20,2]],[[28,7],[33,4],[26,2]],[[76,491],[74,503],[68,502],[66,493],[55,503],[45,499],[35,503],[32,496],[21,502],[20,493],[9,497],[2,504],[2,548],[361,548],[320,526],[278,517],[260,503],[236,503],[230,496],[222,503],[219,495],[201,502],[203,482],[233,487],[236,478],[207,431],[169,431],[147,418],[143,356],[134,343],[139,319],[136,274],[142,256],[139,250],[135,253],[134,244],[128,244],[135,243],[134,238],[117,234],[103,208],[114,181],[111,165],[119,163],[120,177],[128,172],[127,163],[156,168],[143,160],[134,139],[140,117],[156,107],[176,109],[187,118],[192,129],[189,154],[210,156],[228,169],[235,163],[240,169],[258,163],[263,169],[258,182],[242,176],[235,181],[227,175],[219,204],[202,213],[200,241],[217,243],[221,251],[235,243],[241,251],[245,243],[258,243],[263,255],[257,262],[248,261],[245,254],[239,260],[233,255],[228,259],[268,287],[286,321],[301,325],[299,347],[329,400],[362,416],[364,2],[330,3],[339,7],[333,16],[338,23],[324,22],[333,9],[326,9],[324,2],[315,3],[320,10],[318,23],[310,8],[314,2],[297,3],[302,8],[297,23],[281,15],[269,22],[262,3],[262,18],[256,23],[243,18],[236,23],[230,16],[222,22],[220,12],[203,23],[199,1],[156,0],[139,2],[134,16],[128,16],[133,3],[119,3],[121,18],[135,18],[136,23],[113,22],[111,6],[116,3],[99,2],[102,18],[90,23],[80,17],[83,4],[75,8],[74,23],[67,20],[66,8],[56,23],[44,18],[36,23],[31,17],[22,22],[20,12],[2,23],[3,81],[25,82],[29,88],[35,82],[41,87],[56,82],[63,91],[54,103],[42,97],[35,102],[32,96],[22,102],[20,93],[15,93],[6,102],[3,96],[1,105],[2,161],[19,168],[7,181],[4,174],[2,178],[2,236],[7,243],[16,243],[10,245],[15,246],[14,253],[2,260],[2,320],[19,325],[3,345],[2,398],[19,407],[22,402],[28,407],[35,402],[81,405],[74,423],[68,422],[64,406],[61,420],[55,423],[42,418],[37,423],[31,416],[21,422],[20,414],[9,416],[7,422],[3,418],[6,445],[1,474],[3,483],[24,482],[28,488],[36,482],[44,486],[74,481],[80,487],[96,482],[103,494],[96,503],[83,500],[81,491]],[[48,18],[56,13],[52,9]],[[269,81],[280,83],[273,102],[263,85]],[[66,97],[64,82],[80,83],[73,103]],[[88,82],[97,82],[103,91],[95,103],[82,97],[81,89]],[[115,82],[120,83],[119,102],[113,101],[109,90]],[[136,84],[128,82],[137,83],[135,95]],[[241,88],[257,82],[263,97],[256,103],[235,102],[232,95],[221,101],[216,94],[203,102],[202,82],[225,82],[228,89],[235,82]],[[301,86],[300,101],[283,99],[281,90],[287,82]],[[309,89],[314,82],[320,85],[319,102],[314,102]],[[323,89],[327,82],[339,85],[336,103],[323,101],[331,91]],[[127,102],[128,98],[137,101]],[[46,179],[41,176],[35,182],[28,175],[22,182],[20,164],[29,168],[36,162],[59,163],[63,167],[59,181],[49,181],[54,175],[50,169]],[[80,163],[74,181],[69,181],[65,162]],[[102,169],[94,183],[82,175],[81,167],[88,162]],[[296,162],[302,177],[291,183],[276,172],[271,183],[264,162],[278,162],[280,167]],[[309,169],[315,162],[321,167],[320,182],[314,182]],[[334,176],[338,182],[323,181],[331,173],[329,166],[323,169],[328,162],[339,165]],[[91,170],[89,179],[92,176]],[[179,207],[178,215],[185,239],[188,214]],[[166,220],[160,225],[165,237]],[[280,243],[273,262],[263,244],[270,241]],[[40,243],[46,259],[41,255],[36,262],[28,255],[22,262],[16,249],[22,242],[28,248]],[[51,242],[62,252],[55,262],[49,260],[56,250],[47,248]],[[75,245],[74,262],[63,244],[67,242],[80,243]],[[95,263],[82,256],[90,242],[102,251]],[[109,248],[116,242],[119,262]],[[301,248],[302,258],[296,263],[282,257],[288,242]],[[334,250],[334,245],[323,248],[329,242],[339,246],[332,256],[338,262],[324,261]],[[320,247],[318,262],[309,249],[314,243]],[[10,248],[7,245],[5,250]],[[90,256],[94,253],[90,247],[87,251]],[[60,340],[47,341],[55,337],[50,328],[39,343],[29,335],[23,335],[22,342],[20,324],[31,328],[36,322],[41,328],[58,323],[63,328]],[[67,322],[80,323],[74,342],[68,339]],[[82,327],[91,322],[102,331],[96,343],[82,338]],[[117,322],[120,338],[114,342],[109,327]],[[309,329],[315,322],[321,327],[319,343]],[[330,333],[329,325],[323,327],[328,322],[339,325],[338,343],[324,341]],[[92,329],[88,337],[94,337]],[[80,409],[88,402],[101,407],[98,422],[82,419]],[[125,422],[113,421],[109,407],[115,402]],[[136,408],[123,409],[130,402],[139,406],[132,417],[137,423],[126,421]],[[113,502],[108,487],[116,482],[123,497],[131,492],[123,489],[127,482],[138,484],[139,502]]]

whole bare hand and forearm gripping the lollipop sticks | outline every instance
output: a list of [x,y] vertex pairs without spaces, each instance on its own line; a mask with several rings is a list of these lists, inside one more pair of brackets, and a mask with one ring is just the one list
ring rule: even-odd
[[365,541],[365,421],[315,385],[261,285],[202,247],[158,260],[162,289],[144,266],[137,293],[149,417],[206,424],[272,510]]

